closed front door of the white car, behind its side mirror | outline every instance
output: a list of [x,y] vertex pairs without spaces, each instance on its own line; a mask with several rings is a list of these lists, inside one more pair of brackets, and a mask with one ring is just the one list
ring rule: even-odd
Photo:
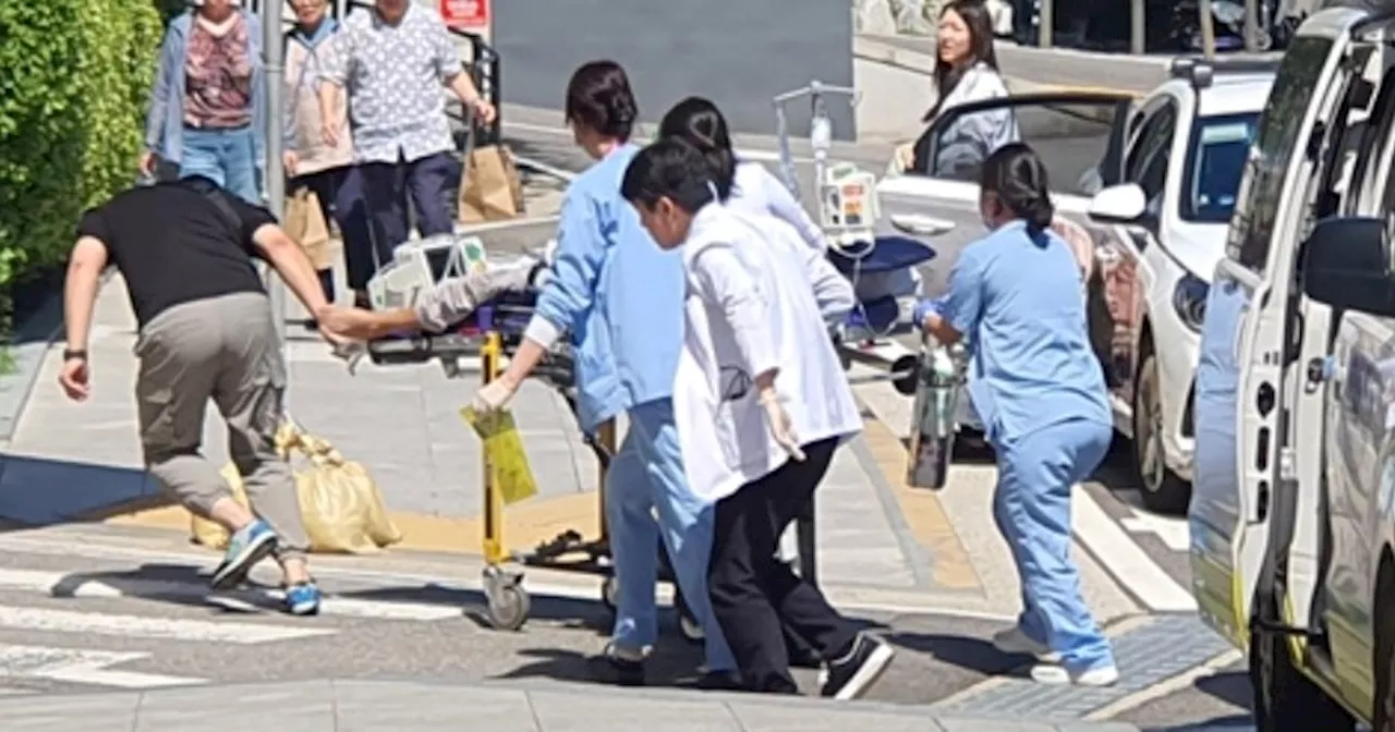
[[[1143,254],[1158,245],[1179,119],[1180,107],[1172,95],[1151,99],[1138,110],[1138,127],[1124,152],[1120,183],[1143,188],[1147,213],[1137,224],[1094,224],[1096,276],[1089,287],[1091,337],[1110,392],[1123,404],[1133,404],[1144,294],[1152,283]],[[1127,420],[1120,422],[1126,427]]]

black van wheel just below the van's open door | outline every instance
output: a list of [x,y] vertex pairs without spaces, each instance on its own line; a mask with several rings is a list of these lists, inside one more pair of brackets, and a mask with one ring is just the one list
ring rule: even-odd
[[[1250,685],[1256,732],[1356,728],[1352,715],[1293,665],[1289,639],[1281,633],[1250,634]],[[1377,726],[1375,732],[1388,731]]]

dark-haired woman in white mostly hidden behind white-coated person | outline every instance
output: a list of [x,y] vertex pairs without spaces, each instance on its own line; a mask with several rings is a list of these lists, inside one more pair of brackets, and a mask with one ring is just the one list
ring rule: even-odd
[[717,198],[728,208],[783,219],[809,247],[820,254],[829,248],[823,230],[780,178],[757,162],[737,159],[731,131],[717,105],[700,96],[678,102],[658,123],[658,137],[677,137],[702,151],[717,185]]

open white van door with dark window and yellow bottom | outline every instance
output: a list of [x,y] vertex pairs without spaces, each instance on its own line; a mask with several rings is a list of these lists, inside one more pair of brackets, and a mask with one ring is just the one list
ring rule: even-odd
[[1207,298],[1194,396],[1191,581],[1202,618],[1240,647],[1249,644],[1281,473],[1285,305],[1318,167],[1311,145],[1343,95],[1346,29],[1362,17],[1331,11],[1324,20],[1336,28],[1306,25],[1283,56]]

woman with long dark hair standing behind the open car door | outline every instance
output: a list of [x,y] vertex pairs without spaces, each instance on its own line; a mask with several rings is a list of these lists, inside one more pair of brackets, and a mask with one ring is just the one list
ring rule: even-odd
[[[1007,96],[1007,85],[993,53],[993,20],[983,0],[954,0],[940,11],[936,35],[935,106],[922,121],[932,123],[946,112],[974,102]],[[974,112],[958,117],[937,135],[935,160],[919,159],[925,138],[897,148],[893,166],[929,176],[978,180],[978,166],[997,148],[1018,141],[1017,116],[1011,107]]]

